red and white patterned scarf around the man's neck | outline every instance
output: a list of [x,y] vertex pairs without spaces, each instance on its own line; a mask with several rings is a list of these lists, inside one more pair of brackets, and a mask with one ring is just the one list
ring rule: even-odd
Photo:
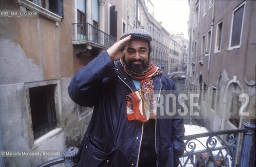
[[[121,61],[122,62],[122,61]],[[135,80],[140,80],[140,87],[138,91],[132,92],[126,96],[126,112],[128,120],[139,120],[147,122],[149,118],[156,120],[156,101],[154,98],[153,77],[161,76],[162,71],[159,67],[150,63],[149,67],[141,73],[135,73],[126,69],[124,71]]]

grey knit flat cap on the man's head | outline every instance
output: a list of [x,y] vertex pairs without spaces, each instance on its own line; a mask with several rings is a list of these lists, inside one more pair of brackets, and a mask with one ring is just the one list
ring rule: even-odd
[[148,42],[152,41],[151,34],[148,31],[146,31],[144,29],[140,29],[140,28],[126,31],[125,33],[122,34],[120,40],[128,37],[129,35],[131,35],[131,37],[143,38],[143,39],[147,40]]

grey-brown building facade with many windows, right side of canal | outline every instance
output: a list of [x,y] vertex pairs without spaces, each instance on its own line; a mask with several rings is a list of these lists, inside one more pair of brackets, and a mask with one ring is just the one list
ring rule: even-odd
[[188,2],[186,87],[199,94],[197,118],[210,130],[255,124],[256,3]]

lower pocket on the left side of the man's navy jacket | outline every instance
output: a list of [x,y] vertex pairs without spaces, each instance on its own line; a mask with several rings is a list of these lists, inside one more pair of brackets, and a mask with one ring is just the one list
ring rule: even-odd
[[108,152],[103,152],[94,147],[90,142],[84,140],[81,148],[81,157],[77,166],[113,166],[112,160],[114,158],[115,149],[111,149]]

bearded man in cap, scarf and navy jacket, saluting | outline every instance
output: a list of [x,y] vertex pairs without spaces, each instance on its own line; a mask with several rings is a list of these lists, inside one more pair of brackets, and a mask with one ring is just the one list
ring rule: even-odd
[[146,30],[127,31],[73,77],[71,99],[94,106],[77,166],[179,165],[183,118],[175,111],[172,117],[158,117],[163,108],[155,96],[177,91],[173,80],[150,62],[151,41]]

